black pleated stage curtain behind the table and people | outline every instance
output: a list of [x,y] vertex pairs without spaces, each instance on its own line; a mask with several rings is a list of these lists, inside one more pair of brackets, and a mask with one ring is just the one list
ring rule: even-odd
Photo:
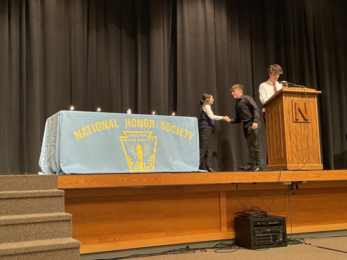
[[[0,174],[37,173],[45,120],[76,110],[199,117],[204,93],[235,116],[230,86],[260,107],[280,79],[321,90],[325,169],[347,158],[344,0],[0,0]],[[245,162],[240,125],[216,122],[214,168]],[[263,161],[266,134],[260,133]]]

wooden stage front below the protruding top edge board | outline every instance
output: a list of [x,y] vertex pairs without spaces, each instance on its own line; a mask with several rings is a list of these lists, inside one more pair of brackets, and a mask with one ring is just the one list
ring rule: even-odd
[[[290,191],[293,233],[347,229],[346,181],[314,182]],[[257,190],[255,190],[257,189]],[[177,185],[65,190],[73,238],[81,253],[234,238],[234,217],[250,208],[289,216],[280,183]],[[294,193],[294,194],[293,194]],[[259,195],[258,195],[259,194]],[[288,193],[286,193],[288,196]],[[266,206],[263,205],[263,202]],[[287,222],[290,233],[290,222]]]

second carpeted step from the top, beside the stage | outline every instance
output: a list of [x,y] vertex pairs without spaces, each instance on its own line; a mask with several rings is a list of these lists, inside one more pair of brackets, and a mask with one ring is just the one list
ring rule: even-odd
[[0,216],[64,212],[64,191],[1,191],[0,209]]

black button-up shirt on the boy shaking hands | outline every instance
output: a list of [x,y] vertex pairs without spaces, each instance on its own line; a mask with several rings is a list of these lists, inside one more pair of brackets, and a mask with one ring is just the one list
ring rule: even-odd
[[250,96],[242,95],[236,99],[236,118],[231,119],[230,123],[259,122],[259,109],[254,99]]

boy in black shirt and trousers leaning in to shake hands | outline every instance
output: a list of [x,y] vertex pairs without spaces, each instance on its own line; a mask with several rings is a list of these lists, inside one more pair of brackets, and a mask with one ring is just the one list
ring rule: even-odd
[[238,168],[244,171],[259,171],[262,169],[262,162],[258,144],[258,131],[260,128],[258,106],[251,96],[243,94],[241,84],[232,86],[230,92],[236,99],[236,118],[230,119],[230,123],[243,123],[243,132],[249,153],[247,165],[238,166]]

